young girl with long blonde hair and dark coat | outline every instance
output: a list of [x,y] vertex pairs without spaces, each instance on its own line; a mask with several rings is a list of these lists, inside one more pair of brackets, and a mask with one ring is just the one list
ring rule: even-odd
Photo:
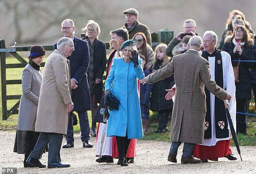
[[[167,45],[163,43],[155,48],[154,61],[151,67],[152,73],[165,67],[171,61],[171,58],[166,55],[166,49]],[[168,117],[172,113],[173,102],[172,100],[165,99],[167,93],[165,89],[170,89],[173,85],[174,75],[152,84],[150,110],[158,111],[158,128],[155,130],[156,133],[168,130]]]

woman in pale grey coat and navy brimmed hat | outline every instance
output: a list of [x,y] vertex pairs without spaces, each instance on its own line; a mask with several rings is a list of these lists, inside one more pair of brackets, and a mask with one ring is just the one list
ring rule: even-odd
[[26,160],[34,146],[40,133],[34,132],[36,122],[36,109],[42,81],[42,68],[40,63],[43,61],[45,50],[40,45],[32,46],[28,64],[22,72],[21,84],[22,95],[19,103],[19,114],[17,131],[14,144],[14,152],[25,154],[24,168],[34,167],[27,164]]

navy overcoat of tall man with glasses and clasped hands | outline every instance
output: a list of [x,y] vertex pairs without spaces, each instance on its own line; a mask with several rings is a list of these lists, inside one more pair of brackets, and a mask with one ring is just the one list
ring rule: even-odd
[[[67,57],[70,64],[71,79],[78,81],[78,87],[71,90],[71,98],[74,103],[74,111],[91,110],[90,89],[86,71],[90,63],[88,42],[74,36],[75,50]],[[57,44],[53,50],[57,49]]]

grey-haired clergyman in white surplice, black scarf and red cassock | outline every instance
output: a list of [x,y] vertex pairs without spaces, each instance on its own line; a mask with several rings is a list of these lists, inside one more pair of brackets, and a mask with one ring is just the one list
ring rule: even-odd
[[[208,60],[212,79],[216,84],[226,89],[232,95],[230,103],[227,103],[233,126],[236,127],[236,101],[235,101],[235,78],[230,55],[216,48],[218,37],[214,31],[206,31],[203,37],[204,50],[201,56]],[[230,148],[231,131],[222,100],[214,97],[205,88],[206,93],[206,118],[204,127],[204,144],[195,145],[194,156],[202,159],[218,161],[219,157],[227,157],[229,160],[237,160]]]

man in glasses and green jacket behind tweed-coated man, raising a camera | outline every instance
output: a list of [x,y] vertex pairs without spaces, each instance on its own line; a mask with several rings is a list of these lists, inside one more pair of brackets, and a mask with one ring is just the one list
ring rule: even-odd
[[183,22],[183,32],[178,33],[176,35],[176,37],[174,37],[170,41],[170,43],[168,44],[168,48],[166,49],[166,55],[173,56],[172,55],[173,48],[176,45],[178,45],[179,43],[181,43],[181,41],[185,35],[191,35],[191,36],[198,35],[198,33],[195,32],[196,29],[197,29],[197,27],[196,27],[195,21],[193,19],[186,19]]

